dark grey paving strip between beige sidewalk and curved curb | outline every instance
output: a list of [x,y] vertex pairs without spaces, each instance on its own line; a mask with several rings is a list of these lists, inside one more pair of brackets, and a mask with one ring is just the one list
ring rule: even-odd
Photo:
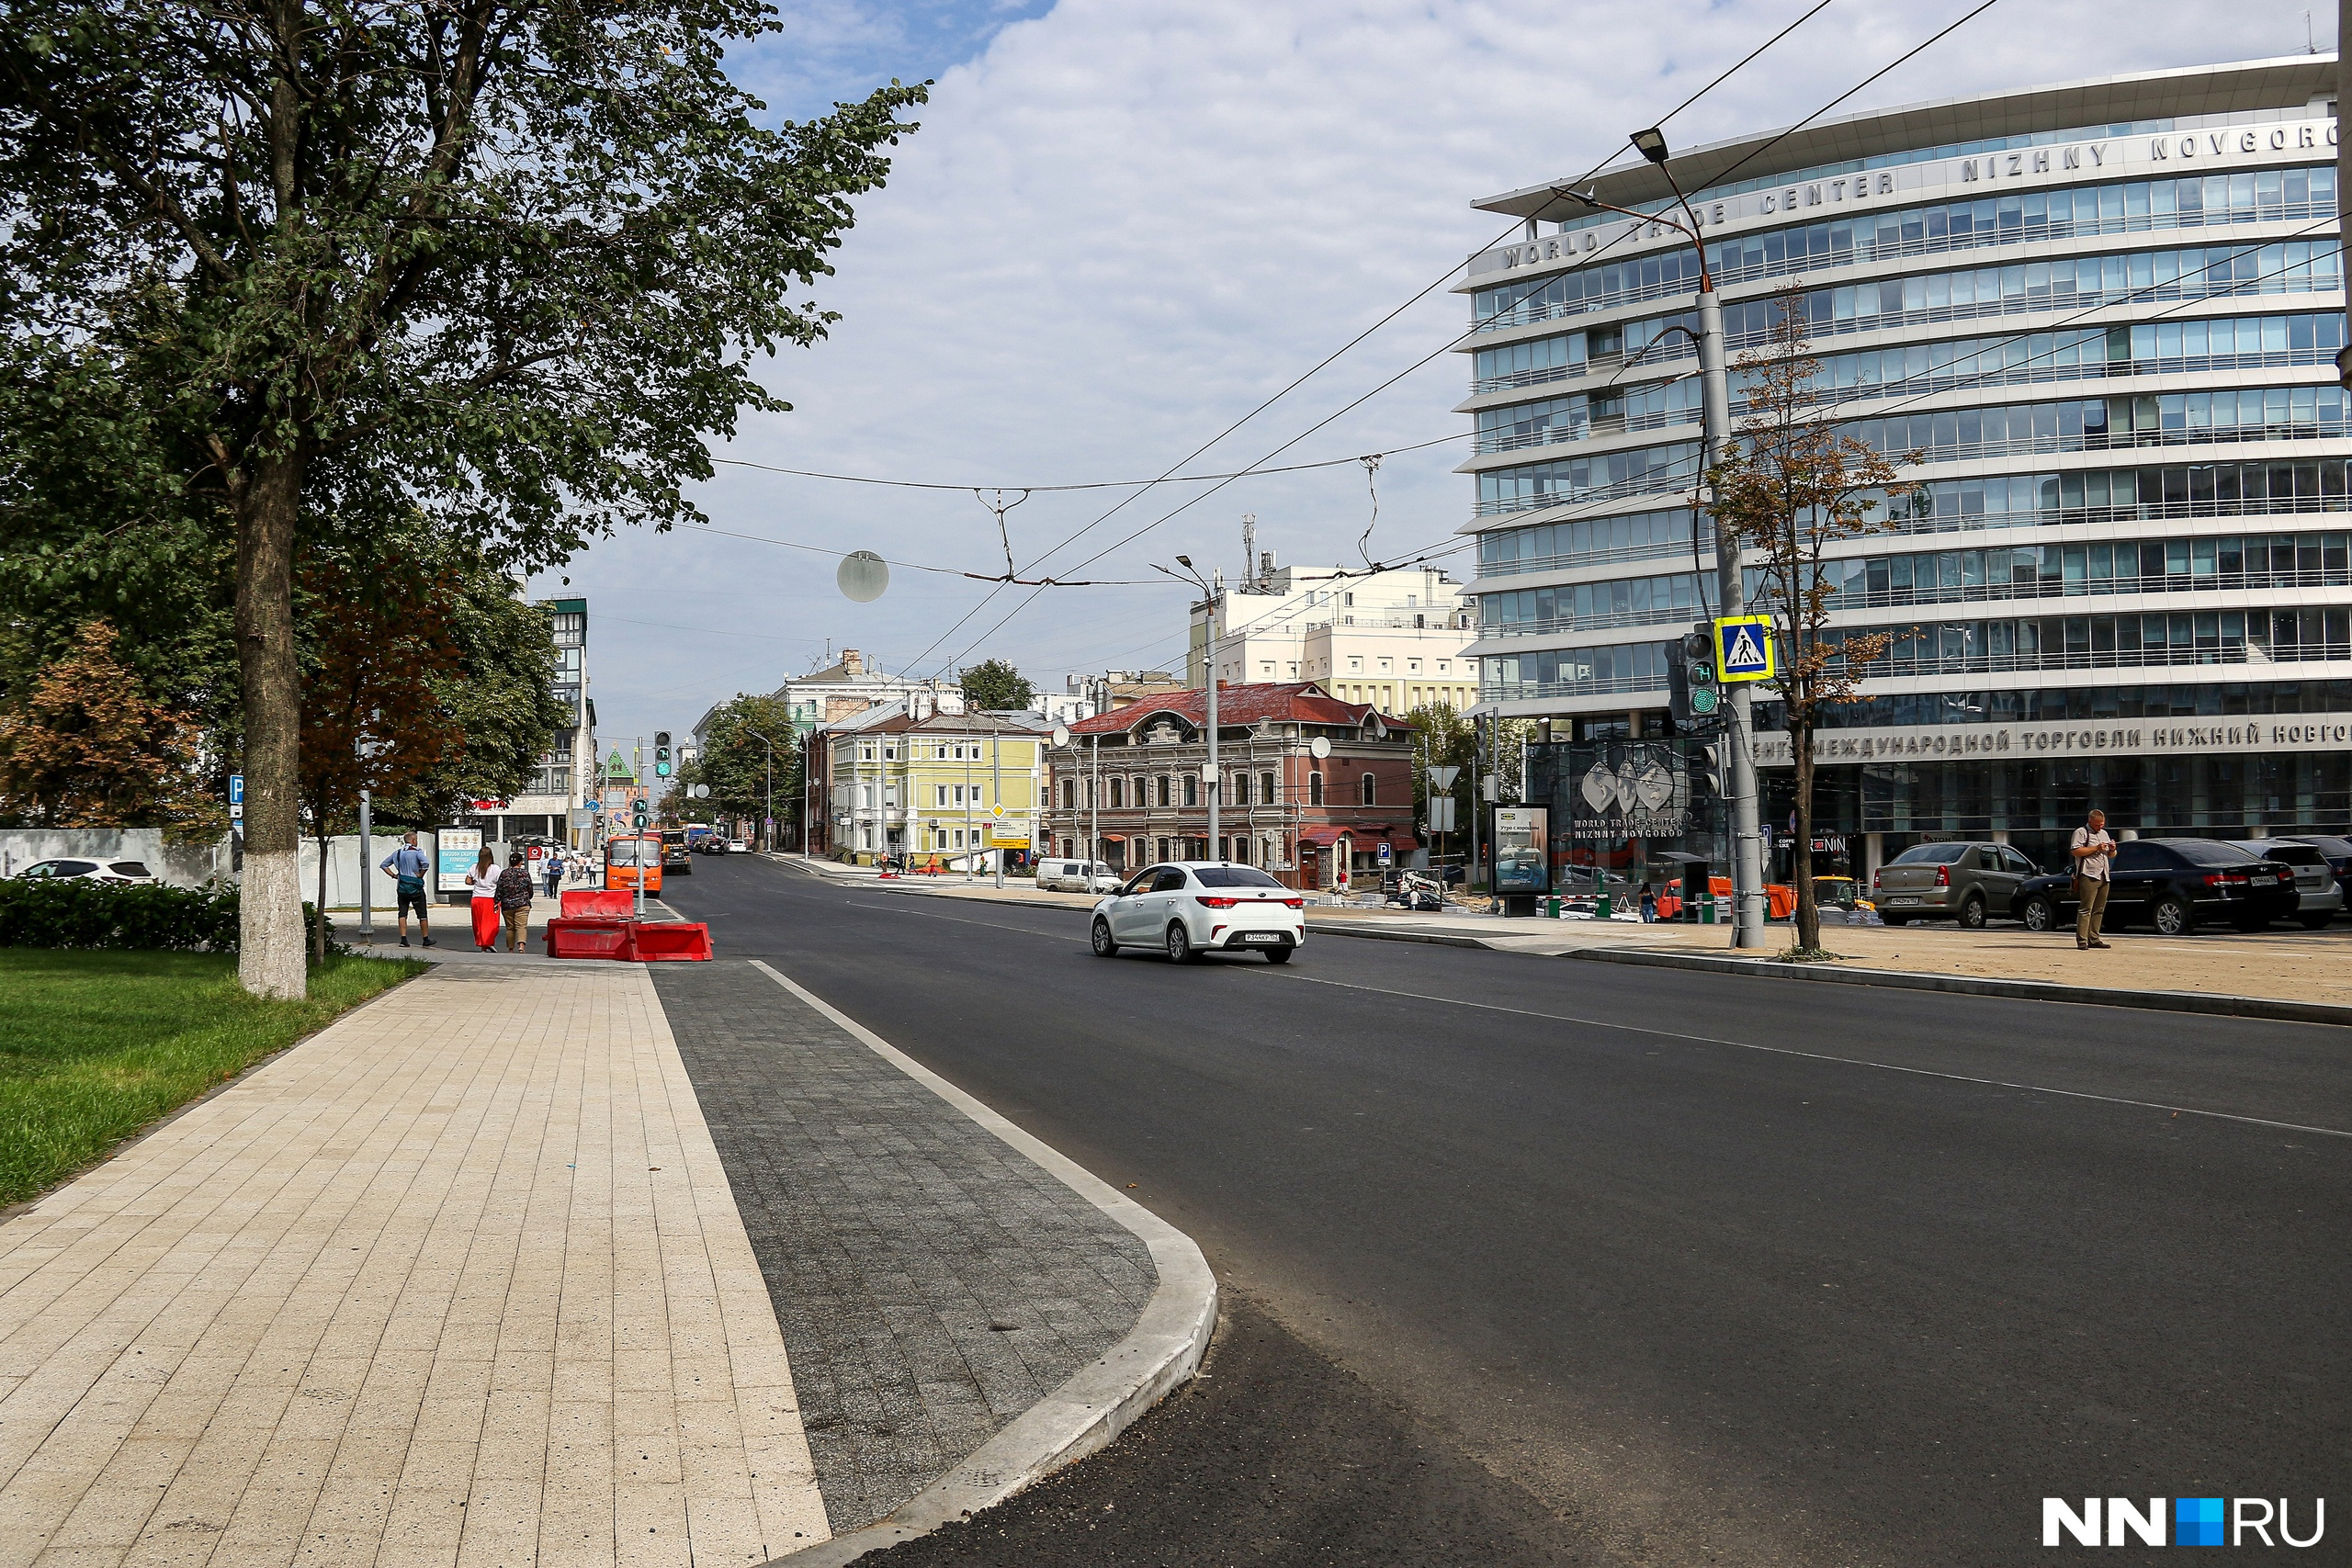
[[750,964],[666,966],[654,987],[783,1326],[835,1533],[1134,1326],[1157,1284],[1143,1244],[922,1084]]

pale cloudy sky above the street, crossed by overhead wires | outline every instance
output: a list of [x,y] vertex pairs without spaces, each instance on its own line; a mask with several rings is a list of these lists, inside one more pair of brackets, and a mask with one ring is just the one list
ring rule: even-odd
[[[1150,480],[1451,280],[1505,228],[1475,197],[1585,172],[1811,2],[783,0],[786,31],[739,59],[779,115],[894,75],[936,87],[818,289],[842,322],[767,362],[795,411],[748,421],[717,456],[953,487]],[[1832,0],[1675,118],[1670,139],[1802,120],[1973,5]],[[2321,47],[2331,21],[2319,7]],[[2303,47],[2305,5],[2002,0],[1839,113]],[[1084,576],[1155,578],[1150,564],[1178,552],[1232,571],[1242,512],[1287,562],[1355,559],[1374,496],[1345,458],[1416,442],[1439,444],[1374,477],[1371,555],[1454,543],[1470,482],[1451,473],[1468,421],[1449,409],[1468,371],[1439,350],[1465,310],[1435,289],[1185,473],[1277,449],[1275,463],[1341,463],[1242,480],[1167,522],[1209,487],[1040,491],[1009,512],[1016,559],[1028,569],[1077,536],[1047,557],[1070,574],[1148,529]],[[790,548],[1002,569],[969,489],[722,465],[701,501],[724,534],[621,536],[564,569],[562,592],[590,597],[607,748],[684,731],[842,646],[917,675],[1002,656],[1051,686],[1181,658],[1185,595],[1164,581],[1030,602],[901,567],[887,595],[851,604],[830,555]],[[534,583],[557,588],[553,574]]]

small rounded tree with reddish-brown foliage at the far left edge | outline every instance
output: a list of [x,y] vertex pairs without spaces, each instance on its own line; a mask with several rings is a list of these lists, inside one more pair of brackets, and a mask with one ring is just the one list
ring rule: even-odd
[[38,827],[174,827],[195,811],[195,726],[151,703],[87,621],[0,715],[0,813]]

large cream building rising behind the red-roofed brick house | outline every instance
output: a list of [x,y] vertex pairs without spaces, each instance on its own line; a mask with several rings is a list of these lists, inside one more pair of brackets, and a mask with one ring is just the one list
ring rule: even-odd
[[[1437,567],[1348,574],[1277,567],[1218,585],[1216,677],[1230,686],[1315,682],[1343,703],[1409,712],[1423,703],[1468,710],[1477,701],[1475,642],[1461,585]],[[1192,607],[1188,677],[1209,668],[1209,609]]]

